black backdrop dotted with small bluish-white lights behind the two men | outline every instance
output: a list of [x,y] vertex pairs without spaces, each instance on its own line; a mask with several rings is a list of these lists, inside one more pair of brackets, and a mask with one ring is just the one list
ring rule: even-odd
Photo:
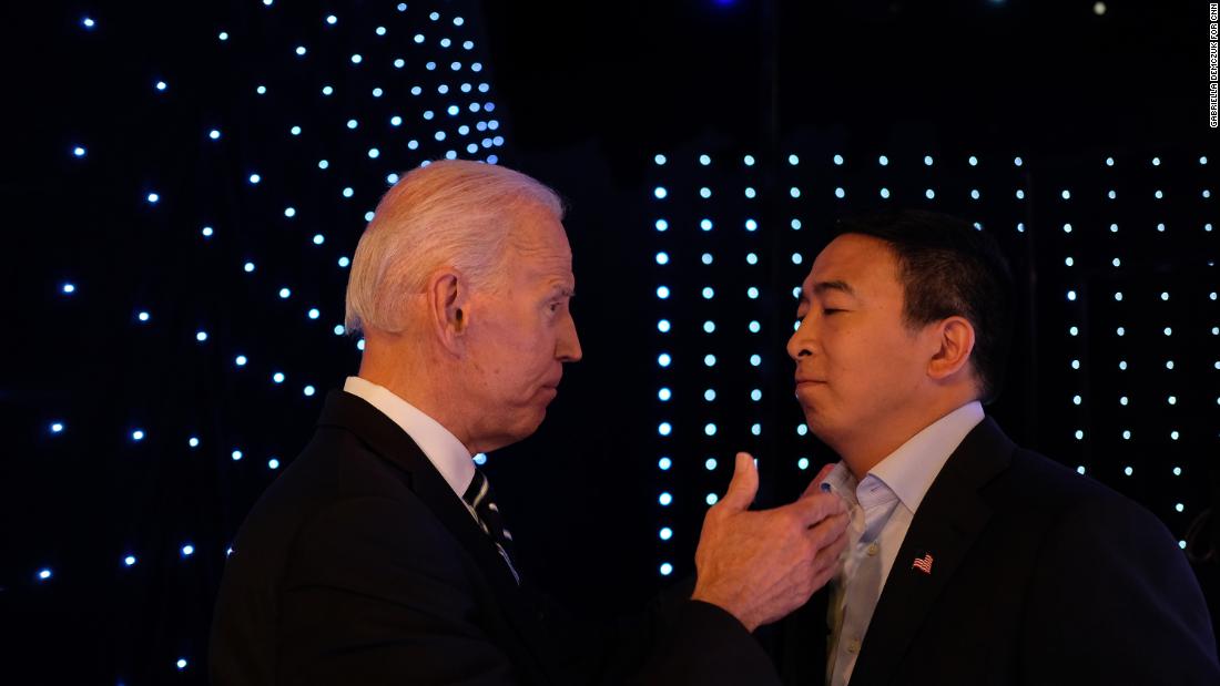
[[[1207,121],[1205,2],[1108,2],[1104,15],[1092,2],[988,0],[395,5],[4,10],[0,630],[5,669],[29,670],[23,681],[204,679],[227,541],[274,478],[268,461],[292,459],[321,397],[359,362],[355,341],[332,330],[346,279],[337,261],[387,174],[451,149],[495,155],[570,205],[586,358],[569,368],[538,434],[487,468],[527,573],[578,609],[630,608],[693,571],[704,497],[722,492],[733,451],[760,458],[764,504],[792,497],[832,459],[798,434],[787,395],[789,291],[836,217],[886,205],[959,213],[1009,253],[1022,317],[992,412],[1014,439],[1086,467],[1183,541],[1214,502],[1220,312],[1210,296],[1220,283],[1209,223],[1220,213],[1203,191],[1216,190],[1220,157]],[[442,35],[473,48],[439,48]],[[464,66],[450,74],[454,52]],[[432,60],[438,69],[426,68]],[[436,93],[461,82],[489,93]],[[495,110],[449,117],[454,100]],[[494,132],[454,135],[492,118]],[[495,135],[503,145],[483,145]],[[658,218],[671,228],[656,232]],[[702,232],[703,218],[716,229]],[[741,230],[747,218],[760,229]],[[659,301],[658,285],[671,299]],[[700,299],[705,285],[719,300]],[[752,285],[758,300],[745,295]],[[662,317],[670,334],[656,328]],[[714,335],[702,330],[708,319]],[[658,367],[661,352],[672,367]],[[699,363],[706,353],[715,368]],[[756,368],[745,363],[754,353]],[[237,355],[249,363],[237,367]],[[702,397],[709,385],[715,402]],[[659,401],[661,386],[673,400]],[[748,397],[755,387],[761,402]],[[66,429],[51,433],[52,422]],[[660,422],[671,436],[658,434]],[[712,437],[709,422],[720,428]],[[145,439],[132,440],[137,429]],[[660,470],[661,457],[673,467]],[[673,504],[660,506],[662,491]],[[659,539],[661,526],[672,540]],[[1197,542],[1205,553],[1207,536]],[[184,557],[187,543],[195,552]],[[123,564],[127,554],[138,562]],[[1197,565],[1213,603],[1215,564]],[[41,569],[51,578],[38,579]]]

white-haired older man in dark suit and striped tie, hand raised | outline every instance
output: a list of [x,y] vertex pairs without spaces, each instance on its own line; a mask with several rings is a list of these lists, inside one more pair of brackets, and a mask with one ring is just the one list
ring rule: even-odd
[[348,286],[359,374],[238,532],[215,682],[777,682],[750,632],[828,580],[847,518],[820,492],[749,512],[745,453],[705,520],[693,593],[632,631],[573,646],[518,575],[471,456],[531,435],[581,359],[561,218],[538,182],[465,161],[382,200]]

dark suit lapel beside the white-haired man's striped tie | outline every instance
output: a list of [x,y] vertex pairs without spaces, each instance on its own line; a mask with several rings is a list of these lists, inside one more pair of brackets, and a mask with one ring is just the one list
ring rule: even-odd
[[478,526],[449,483],[411,436],[367,401],[345,391],[332,391],[327,396],[318,425],[340,426],[354,433],[375,453],[406,473],[411,491],[475,558],[495,592],[499,608],[531,647],[539,669],[543,669],[545,662],[542,657],[547,649],[547,640],[539,624],[538,609],[533,607],[529,595],[522,592],[495,543]]

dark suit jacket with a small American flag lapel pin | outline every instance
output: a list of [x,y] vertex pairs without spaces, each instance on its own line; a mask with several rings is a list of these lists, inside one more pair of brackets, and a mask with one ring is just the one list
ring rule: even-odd
[[[913,567],[925,554],[931,574]],[[825,684],[827,596],[771,637],[784,684]],[[915,513],[850,682],[1216,686],[1220,668],[1165,526],[987,418]]]

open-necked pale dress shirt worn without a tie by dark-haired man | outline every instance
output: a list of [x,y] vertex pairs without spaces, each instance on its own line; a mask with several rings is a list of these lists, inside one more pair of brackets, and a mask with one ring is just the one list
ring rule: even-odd
[[852,518],[826,613],[828,686],[850,681],[872,612],[920,502],[953,451],[982,420],[982,405],[966,403],[911,436],[859,484],[843,462],[827,474],[826,483],[847,502]]

